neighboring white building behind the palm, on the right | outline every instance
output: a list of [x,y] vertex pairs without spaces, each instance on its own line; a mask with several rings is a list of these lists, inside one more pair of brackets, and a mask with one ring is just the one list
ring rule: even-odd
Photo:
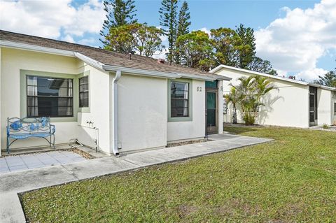
[[[210,72],[232,78],[230,82],[223,82],[223,94],[228,94],[230,84],[238,85],[240,77],[262,75],[274,82],[277,89],[267,94],[265,106],[260,107],[258,124],[301,128],[336,124],[336,88],[225,65],[217,66]],[[223,116],[224,122],[232,122],[232,108]],[[242,122],[239,111],[237,119]]]

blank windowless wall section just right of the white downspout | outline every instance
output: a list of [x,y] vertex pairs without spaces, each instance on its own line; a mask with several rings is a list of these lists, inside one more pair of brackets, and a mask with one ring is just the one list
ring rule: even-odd
[[122,73],[118,80],[120,152],[167,145],[167,79]]

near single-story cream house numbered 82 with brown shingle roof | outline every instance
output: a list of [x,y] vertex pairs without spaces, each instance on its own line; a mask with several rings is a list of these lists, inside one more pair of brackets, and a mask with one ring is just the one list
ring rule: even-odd
[[56,144],[76,138],[116,155],[223,132],[223,75],[9,31],[0,46],[2,151],[8,117],[50,117]]

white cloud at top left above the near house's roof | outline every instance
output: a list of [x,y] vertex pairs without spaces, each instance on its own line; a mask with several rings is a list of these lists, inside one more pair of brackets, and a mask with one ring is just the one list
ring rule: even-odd
[[71,6],[71,0],[18,0],[0,4],[0,29],[46,38],[73,40],[73,36],[99,33],[104,17],[103,4],[98,0],[89,0],[78,8]]

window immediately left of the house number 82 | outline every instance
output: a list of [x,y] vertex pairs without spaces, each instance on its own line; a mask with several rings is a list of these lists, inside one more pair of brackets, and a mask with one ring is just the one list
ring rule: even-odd
[[171,117],[189,117],[189,83],[172,81],[170,85]]

